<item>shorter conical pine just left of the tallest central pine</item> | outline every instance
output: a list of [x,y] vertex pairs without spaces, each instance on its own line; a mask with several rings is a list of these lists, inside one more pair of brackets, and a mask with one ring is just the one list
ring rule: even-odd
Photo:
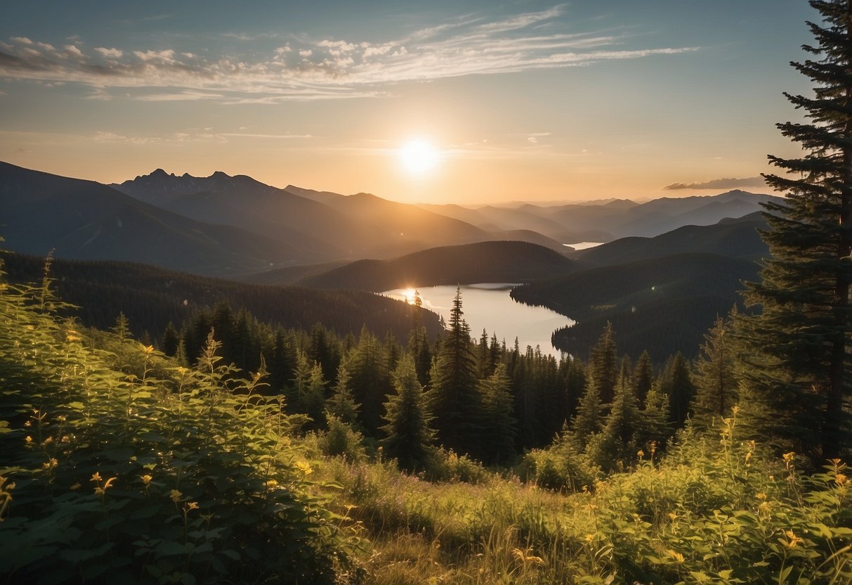
[[384,404],[386,424],[381,430],[387,437],[382,445],[401,469],[411,472],[423,468],[435,439],[427,398],[417,380],[412,356],[403,356],[394,370],[394,388],[396,392]]

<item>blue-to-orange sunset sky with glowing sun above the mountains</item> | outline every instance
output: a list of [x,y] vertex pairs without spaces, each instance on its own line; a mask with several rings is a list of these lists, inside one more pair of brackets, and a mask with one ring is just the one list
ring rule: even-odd
[[3,3],[0,160],[477,205],[769,192],[804,0]]

